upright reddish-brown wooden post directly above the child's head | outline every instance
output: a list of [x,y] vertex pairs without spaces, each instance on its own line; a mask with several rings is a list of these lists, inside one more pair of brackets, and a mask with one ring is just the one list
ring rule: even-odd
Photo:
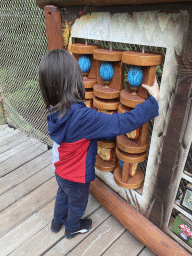
[[53,5],[46,6],[45,23],[49,51],[63,49],[60,8]]

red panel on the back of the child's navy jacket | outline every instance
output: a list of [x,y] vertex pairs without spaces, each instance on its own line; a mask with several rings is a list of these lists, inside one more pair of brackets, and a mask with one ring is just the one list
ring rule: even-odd
[[86,157],[90,140],[82,139],[73,143],[62,143],[55,172],[63,179],[85,183]]

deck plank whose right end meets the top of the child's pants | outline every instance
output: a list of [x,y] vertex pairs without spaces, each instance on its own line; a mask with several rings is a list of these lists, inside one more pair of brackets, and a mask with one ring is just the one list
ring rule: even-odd
[[34,212],[53,200],[57,191],[55,178],[47,181],[0,214],[0,236],[9,232]]

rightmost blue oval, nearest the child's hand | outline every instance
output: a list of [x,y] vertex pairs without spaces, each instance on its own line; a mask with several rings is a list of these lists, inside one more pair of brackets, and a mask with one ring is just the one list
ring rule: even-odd
[[139,87],[143,79],[142,67],[132,66],[127,74],[127,81],[132,87]]

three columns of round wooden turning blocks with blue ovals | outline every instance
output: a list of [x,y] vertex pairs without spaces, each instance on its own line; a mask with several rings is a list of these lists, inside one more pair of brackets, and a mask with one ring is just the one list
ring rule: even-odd
[[[156,66],[163,62],[158,53],[142,51],[114,51],[100,46],[73,43],[71,51],[77,59],[86,89],[85,103],[97,111],[112,114],[131,111],[148,97],[141,84],[152,86]],[[124,88],[125,65],[129,65]],[[148,123],[118,136],[116,141],[101,141],[98,144],[96,167],[103,172],[114,172],[115,182],[127,189],[141,186],[144,173],[138,164],[148,155]],[[119,164],[121,161],[121,165]]]

